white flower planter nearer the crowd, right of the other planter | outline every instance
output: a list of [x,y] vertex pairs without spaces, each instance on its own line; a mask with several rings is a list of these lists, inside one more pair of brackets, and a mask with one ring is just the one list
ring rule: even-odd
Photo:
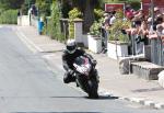
[[128,43],[109,41],[107,43],[107,56],[113,59],[128,56]]

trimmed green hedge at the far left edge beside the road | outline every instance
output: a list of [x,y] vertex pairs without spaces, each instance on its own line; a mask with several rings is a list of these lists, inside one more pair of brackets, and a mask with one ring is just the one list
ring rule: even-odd
[[7,10],[0,14],[0,24],[16,24],[17,10]]

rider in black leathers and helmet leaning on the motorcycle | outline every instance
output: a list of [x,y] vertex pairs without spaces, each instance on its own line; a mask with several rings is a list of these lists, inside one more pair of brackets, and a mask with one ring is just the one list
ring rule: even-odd
[[66,74],[63,76],[63,82],[69,83],[75,81],[75,77],[73,76],[73,63],[79,56],[87,56],[94,61],[93,57],[86,54],[83,49],[78,49],[74,39],[68,39],[66,45],[66,50],[62,54],[62,65]]

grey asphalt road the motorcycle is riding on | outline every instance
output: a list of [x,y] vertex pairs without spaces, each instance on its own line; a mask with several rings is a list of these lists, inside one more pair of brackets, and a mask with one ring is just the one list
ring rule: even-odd
[[0,113],[160,113],[117,97],[87,99],[73,84],[62,83],[62,71],[49,67],[46,53],[32,53],[12,27],[0,27]]

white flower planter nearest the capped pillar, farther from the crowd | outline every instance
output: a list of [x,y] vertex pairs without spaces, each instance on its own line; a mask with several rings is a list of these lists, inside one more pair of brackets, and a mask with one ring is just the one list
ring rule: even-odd
[[102,52],[102,39],[98,36],[87,35],[89,49],[93,53]]

